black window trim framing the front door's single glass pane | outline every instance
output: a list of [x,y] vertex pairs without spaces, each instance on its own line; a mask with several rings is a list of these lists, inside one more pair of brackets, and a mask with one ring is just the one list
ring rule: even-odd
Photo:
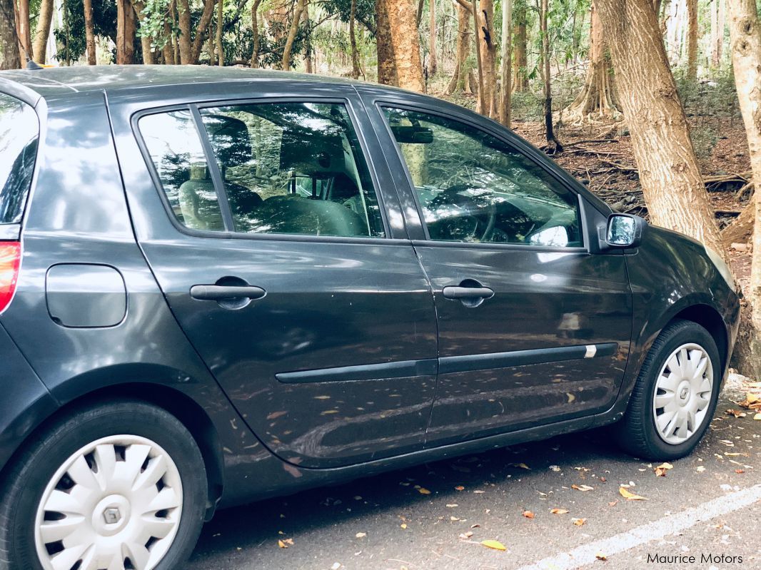
[[[527,154],[526,152],[524,152],[523,149],[517,147],[515,144],[513,144],[512,141],[510,141],[507,137],[503,136],[496,129],[487,128],[485,127],[485,125],[480,125],[478,122],[474,121],[473,119],[464,115],[463,113],[441,111],[441,110],[433,109],[429,106],[425,106],[419,103],[400,103],[398,101],[389,100],[382,97],[375,99],[373,103],[374,103],[376,112],[380,116],[380,120],[383,121],[386,127],[387,137],[390,140],[391,144],[393,144],[394,151],[396,152],[396,158],[397,160],[399,160],[400,164],[402,165],[402,168],[404,170],[404,173],[407,179],[406,189],[409,189],[409,192],[412,193],[412,199],[415,201],[415,204],[417,206],[417,213],[418,213],[418,216],[420,217],[420,222],[422,225],[423,232],[425,233],[425,239],[412,240],[413,245],[465,247],[468,249],[470,248],[513,249],[513,250],[517,249],[521,251],[533,250],[537,252],[566,252],[566,253],[580,253],[580,252],[589,253],[590,252],[589,238],[587,236],[586,212],[584,208],[584,200],[582,199],[583,197],[581,196],[581,194],[577,192],[575,188],[572,188],[570,185],[568,185],[568,183],[565,182],[565,180],[557,176],[556,173],[552,172],[552,169],[549,169],[546,165],[542,164],[540,160],[537,160],[536,157],[533,157],[530,154]],[[556,245],[534,245],[534,244],[500,243],[500,242],[486,242],[486,243],[454,242],[454,241],[450,242],[450,241],[444,241],[444,240],[438,240],[438,239],[431,239],[431,236],[428,233],[428,224],[425,223],[425,216],[423,214],[422,204],[420,204],[418,193],[415,191],[415,183],[412,181],[412,175],[409,173],[409,169],[407,168],[406,160],[404,159],[402,155],[401,148],[399,147],[399,144],[396,142],[396,138],[394,138],[393,132],[391,131],[391,126],[384,114],[384,109],[386,108],[401,109],[401,110],[407,110],[412,112],[422,112],[428,115],[441,117],[442,119],[450,119],[456,122],[460,122],[463,125],[466,125],[470,128],[475,128],[478,131],[482,131],[486,133],[487,135],[490,135],[493,138],[496,138],[498,141],[501,141],[502,144],[505,144],[507,147],[514,150],[517,154],[521,154],[521,156],[523,156],[527,160],[530,160],[530,162],[533,163],[535,166],[539,166],[551,179],[558,182],[559,185],[562,186],[562,188],[565,188],[565,190],[567,190],[568,192],[570,192],[572,195],[576,197],[576,212],[577,212],[578,223],[579,223],[579,233],[581,234],[581,240],[583,245],[572,246],[572,247],[559,247]]]

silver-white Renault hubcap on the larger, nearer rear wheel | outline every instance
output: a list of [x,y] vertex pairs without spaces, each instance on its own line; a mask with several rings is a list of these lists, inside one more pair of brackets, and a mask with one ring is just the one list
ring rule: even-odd
[[180,472],[166,451],[112,435],[69,457],[43,492],[34,527],[45,570],[151,570],[177,535]]

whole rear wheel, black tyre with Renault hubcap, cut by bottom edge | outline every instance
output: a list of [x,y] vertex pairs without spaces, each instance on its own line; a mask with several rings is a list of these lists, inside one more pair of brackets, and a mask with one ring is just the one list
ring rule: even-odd
[[208,494],[202,455],[161,408],[81,408],[34,435],[9,467],[2,570],[52,570],[53,556],[71,557],[65,568],[171,570],[196,545]]

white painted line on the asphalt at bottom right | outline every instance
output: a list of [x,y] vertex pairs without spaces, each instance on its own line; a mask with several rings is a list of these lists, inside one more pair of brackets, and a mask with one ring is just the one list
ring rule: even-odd
[[676,515],[661,518],[659,521],[648,524],[642,524],[642,526],[632,528],[632,530],[628,530],[625,533],[595,540],[594,543],[577,546],[567,553],[549,556],[539,562],[523,566],[518,570],[573,570],[573,568],[580,568],[583,565],[594,562],[597,553],[603,553],[605,556],[610,557],[613,554],[622,553],[635,546],[648,543],[651,540],[667,537],[670,534],[693,527],[703,521],[709,521],[714,517],[726,515],[748,505],[753,505],[754,502],[759,500],[761,500],[761,484],[727,493],[712,501],[704,502],[702,505],[681,511]]

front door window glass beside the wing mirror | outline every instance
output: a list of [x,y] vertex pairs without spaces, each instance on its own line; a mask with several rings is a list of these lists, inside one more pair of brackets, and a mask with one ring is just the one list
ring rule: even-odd
[[470,125],[384,109],[431,239],[582,245],[578,201],[543,169]]

